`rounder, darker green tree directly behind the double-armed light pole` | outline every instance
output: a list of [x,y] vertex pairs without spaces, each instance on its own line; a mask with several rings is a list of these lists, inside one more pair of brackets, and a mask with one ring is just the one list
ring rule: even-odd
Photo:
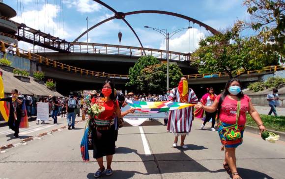
[[[174,64],[169,66],[170,87],[176,87],[183,76],[181,69]],[[149,93],[164,93],[166,91],[167,65],[156,64],[144,68],[137,78],[137,90]]]

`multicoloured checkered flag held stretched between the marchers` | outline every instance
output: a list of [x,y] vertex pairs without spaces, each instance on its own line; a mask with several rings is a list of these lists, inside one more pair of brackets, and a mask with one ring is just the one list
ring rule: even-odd
[[132,108],[142,112],[167,112],[171,110],[182,109],[185,107],[194,106],[195,104],[187,104],[182,102],[139,102],[139,101],[126,101]]

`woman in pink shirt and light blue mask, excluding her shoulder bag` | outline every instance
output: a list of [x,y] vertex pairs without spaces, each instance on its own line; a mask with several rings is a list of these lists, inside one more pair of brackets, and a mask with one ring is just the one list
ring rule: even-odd
[[[237,104],[240,101],[239,117],[237,115]],[[237,173],[236,169],[236,157],[235,148],[242,143],[243,131],[246,124],[246,112],[248,112],[252,118],[255,120],[260,132],[264,131],[264,127],[258,112],[254,108],[251,99],[244,95],[241,91],[241,82],[237,78],[230,79],[223,93],[215,99],[211,106],[205,106],[198,104],[195,106],[197,109],[203,109],[207,112],[215,112],[218,109],[218,132],[222,142],[222,150],[225,150],[225,161],[224,168],[232,179],[241,179]],[[241,136],[234,140],[228,140],[224,135],[226,130],[225,127],[238,124],[238,129],[240,130]]]

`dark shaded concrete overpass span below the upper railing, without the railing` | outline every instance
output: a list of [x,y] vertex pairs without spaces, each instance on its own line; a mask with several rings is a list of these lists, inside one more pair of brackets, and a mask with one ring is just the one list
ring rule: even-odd
[[[128,75],[129,68],[133,67],[140,57],[121,54],[115,55],[98,53],[46,52],[38,54],[49,59],[53,59],[57,62],[76,66],[78,68],[119,75]],[[162,63],[166,63],[166,59],[164,58],[158,58],[158,60],[160,60]],[[191,67],[189,61],[170,60],[170,63],[177,64],[183,74],[197,73],[197,69],[195,67]]]

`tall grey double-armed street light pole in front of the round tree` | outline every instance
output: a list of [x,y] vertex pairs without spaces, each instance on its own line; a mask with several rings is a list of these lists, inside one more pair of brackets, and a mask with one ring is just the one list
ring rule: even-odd
[[167,32],[167,29],[158,29],[158,28],[154,28],[154,27],[149,27],[149,26],[144,26],[145,28],[151,28],[159,33],[161,33],[165,39],[166,39],[166,60],[167,60],[167,77],[166,77],[166,90],[169,89],[169,39],[176,33],[184,30],[184,29],[189,29],[192,28],[192,26],[188,26],[187,28],[180,28],[177,30],[174,30],[173,32],[169,33]]

